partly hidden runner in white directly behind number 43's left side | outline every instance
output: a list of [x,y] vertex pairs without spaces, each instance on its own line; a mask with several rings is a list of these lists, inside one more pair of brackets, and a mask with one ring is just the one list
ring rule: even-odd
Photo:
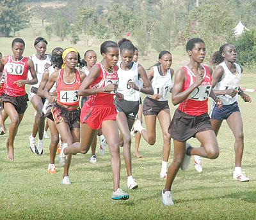
[[[61,64],[62,64],[62,53],[63,53],[63,48],[60,47],[56,47],[52,50],[51,53],[51,63],[52,66],[50,66],[48,68],[48,70],[45,71],[43,77],[42,77],[42,81],[38,87],[38,96],[44,98],[44,88],[45,85],[47,84],[49,78],[51,77],[52,73],[54,73],[54,71],[58,71],[61,69]],[[50,89],[50,94],[51,96],[55,96],[56,97],[56,82],[55,84],[52,86],[52,88]],[[48,165],[48,173],[54,174],[56,173],[56,167],[55,167],[55,157],[56,157],[56,151],[58,149],[58,143],[59,143],[59,133],[58,130],[56,128],[56,124],[54,122],[54,119],[52,117],[52,103],[49,103],[49,100],[46,99],[42,112],[43,112],[43,116],[46,117],[47,123],[49,125],[49,129],[51,132],[51,143],[49,146],[49,152],[50,152],[50,163]]]

